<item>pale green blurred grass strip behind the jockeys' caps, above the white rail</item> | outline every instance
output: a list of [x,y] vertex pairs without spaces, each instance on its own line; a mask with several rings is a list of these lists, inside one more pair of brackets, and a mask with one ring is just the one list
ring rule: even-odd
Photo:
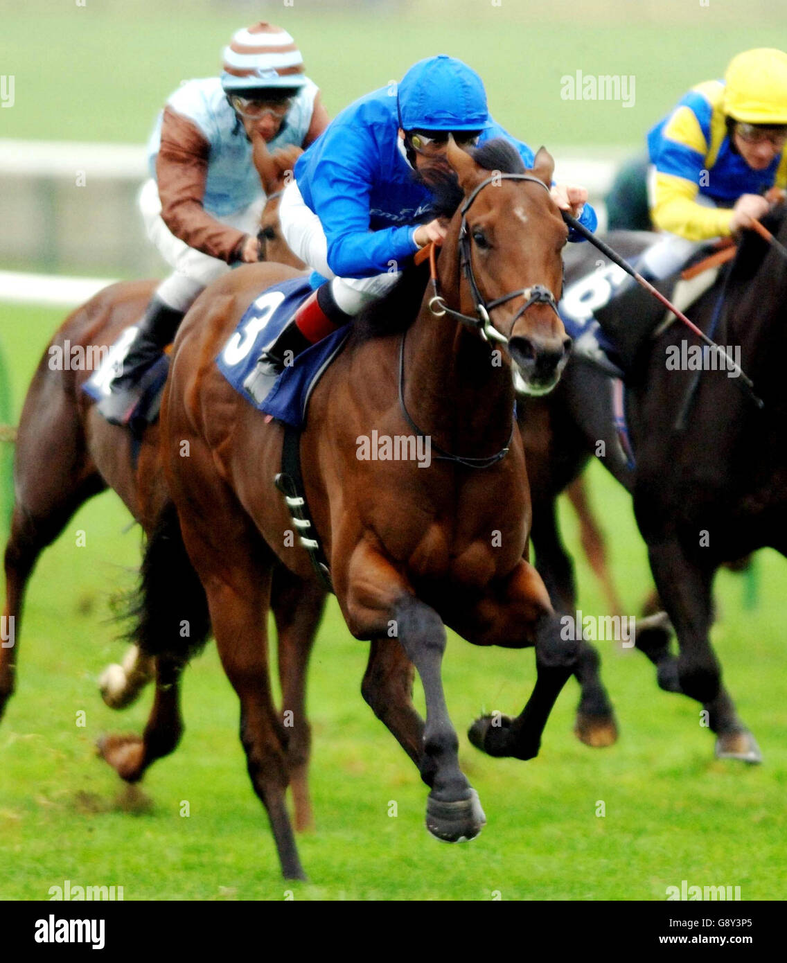
[[[445,52],[481,71],[495,117],[534,147],[641,144],[689,87],[721,76],[733,54],[787,46],[783,19],[754,10],[736,22],[723,5],[687,9],[665,0],[660,18],[649,21],[637,6],[575,0],[571,20],[509,0],[369,12],[277,4],[267,15],[297,39],[331,115],[416,60]],[[162,10],[145,0],[86,7],[31,0],[4,11],[0,70],[15,76],[16,102],[0,114],[0,137],[142,143],[169,93],[183,79],[217,73],[223,44],[253,16],[200,4]],[[635,106],[563,100],[561,77],[576,70],[634,75]]]

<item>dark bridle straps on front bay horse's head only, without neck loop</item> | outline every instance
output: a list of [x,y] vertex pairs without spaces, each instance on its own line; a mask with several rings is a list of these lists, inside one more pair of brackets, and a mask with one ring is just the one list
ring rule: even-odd
[[461,272],[467,278],[467,283],[470,285],[470,294],[473,298],[473,304],[475,305],[476,314],[478,317],[474,318],[469,314],[462,314],[460,311],[455,311],[450,308],[445,299],[440,295],[437,286],[437,272],[434,265],[434,259],[432,259],[432,286],[434,295],[430,299],[429,309],[432,311],[435,317],[441,318],[445,314],[451,315],[453,318],[457,318],[459,321],[463,322],[465,325],[473,325],[473,327],[478,328],[481,333],[482,338],[485,341],[498,341],[502,344],[508,344],[509,338],[505,334],[501,334],[497,328],[492,325],[489,320],[489,312],[494,310],[494,308],[499,307],[501,304],[505,304],[514,298],[524,298],[525,303],[519,308],[512,319],[512,330],[513,325],[522,317],[522,315],[527,311],[527,309],[533,304],[549,304],[555,314],[558,313],[558,304],[555,300],[555,296],[545,287],[543,284],[534,284],[529,288],[520,288],[518,291],[512,291],[511,294],[503,295],[502,298],[495,298],[494,300],[487,301],[479,290],[478,283],[476,282],[476,276],[473,273],[473,261],[470,254],[470,235],[467,230],[467,212],[470,209],[470,205],[476,199],[476,197],[484,190],[484,188],[497,180],[525,180],[532,181],[534,184],[538,184],[547,193],[549,193],[549,188],[544,184],[543,181],[538,180],[538,177],[533,177],[531,174],[492,174],[491,177],[487,177],[485,181],[479,184],[473,193],[465,200],[461,207],[461,225],[459,226],[459,267]]

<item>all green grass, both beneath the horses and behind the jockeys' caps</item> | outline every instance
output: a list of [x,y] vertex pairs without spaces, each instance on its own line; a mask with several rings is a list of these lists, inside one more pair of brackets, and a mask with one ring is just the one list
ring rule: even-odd
[[[534,145],[587,145],[603,156],[613,145],[637,146],[687,87],[721,75],[738,50],[787,46],[781,11],[781,4],[721,0],[707,8],[611,0],[5,4],[0,73],[16,77],[16,104],[0,110],[0,137],[141,143],[180,80],[214,73],[233,30],[269,18],[298,40],[331,113],[445,51],[481,71],[495,116],[512,132]],[[561,100],[561,76],[577,69],[634,74],[636,106]],[[0,303],[14,415],[65,313]],[[597,465],[590,483],[626,612],[639,612],[649,578],[629,499]],[[566,506],[562,519],[576,548]],[[448,704],[462,766],[487,817],[467,846],[428,836],[426,789],[360,696],[367,646],[350,638],[331,601],[309,685],[317,827],[301,852],[312,882],[293,885],[279,878],[237,738],[237,699],[212,646],[185,677],[184,740],[150,770],[144,797],[123,793],[94,758],[101,733],[140,730],[149,706],[145,694],[121,718],[96,688],[103,666],[123,652],[109,599],[134,583],[140,536],[127,525],[113,494],[95,499],[31,583],[19,688],[0,726],[0,898],[46,898],[65,879],[121,885],[126,899],[281,899],[286,890],[298,899],[490,899],[495,891],[504,899],[664,899],[683,879],[739,885],[744,899],[784,898],[785,573],[773,553],[758,558],[753,611],[743,604],[742,579],[721,573],[713,633],[726,684],[763,749],[759,768],[715,762],[695,703],[657,690],[644,658],[612,643],[600,648],[621,729],[616,746],[592,750],[574,739],[572,682],[537,760],[488,759],[463,732],[482,709],[518,711],[533,685],[533,654],[480,650],[452,637]],[[78,530],[84,547],[76,545]],[[578,579],[582,610],[603,613],[579,557]],[[80,711],[84,728],[76,725]],[[191,805],[188,819],[179,815],[182,800]],[[391,800],[396,818],[388,816]],[[595,815],[599,800],[603,818]]]

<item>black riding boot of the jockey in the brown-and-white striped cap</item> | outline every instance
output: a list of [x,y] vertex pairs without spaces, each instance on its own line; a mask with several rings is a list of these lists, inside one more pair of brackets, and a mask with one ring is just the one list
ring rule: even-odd
[[110,394],[98,403],[98,410],[108,422],[127,424],[141,397],[140,378],[171,344],[183,315],[183,311],[175,311],[155,296],[150,299],[134,341],[123,358],[122,371],[113,378]]

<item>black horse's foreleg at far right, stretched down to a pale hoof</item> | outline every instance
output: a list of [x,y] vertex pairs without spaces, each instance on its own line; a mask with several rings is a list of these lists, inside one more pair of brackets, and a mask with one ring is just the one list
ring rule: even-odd
[[680,690],[702,704],[705,716],[700,721],[717,735],[717,757],[762,762],[757,742],[721,685],[721,665],[708,636],[714,570],[689,560],[676,539],[648,545],[648,557],[656,588],[678,639]]

